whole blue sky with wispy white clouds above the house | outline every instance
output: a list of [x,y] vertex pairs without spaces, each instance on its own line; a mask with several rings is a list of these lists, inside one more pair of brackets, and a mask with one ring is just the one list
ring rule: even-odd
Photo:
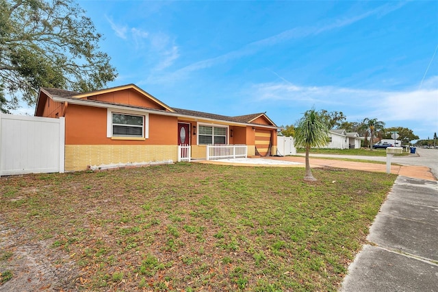
[[118,78],[175,108],[342,111],[438,132],[438,1],[79,1]]

